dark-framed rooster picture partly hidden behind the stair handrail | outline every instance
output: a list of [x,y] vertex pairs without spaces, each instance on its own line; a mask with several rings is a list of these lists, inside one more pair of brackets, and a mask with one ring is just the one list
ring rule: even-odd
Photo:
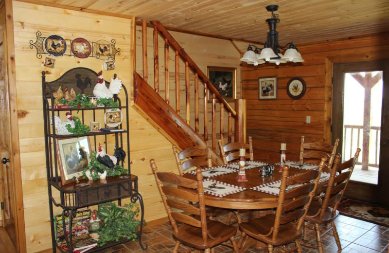
[[[207,66],[208,79],[227,101],[236,98],[236,68]],[[210,97],[211,92],[209,92]]]

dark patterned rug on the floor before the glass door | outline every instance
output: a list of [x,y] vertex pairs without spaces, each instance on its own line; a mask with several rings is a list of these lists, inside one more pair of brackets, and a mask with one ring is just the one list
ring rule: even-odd
[[337,210],[345,216],[389,227],[389,208],[386,207],[354,199],[346,199],[339,204]]

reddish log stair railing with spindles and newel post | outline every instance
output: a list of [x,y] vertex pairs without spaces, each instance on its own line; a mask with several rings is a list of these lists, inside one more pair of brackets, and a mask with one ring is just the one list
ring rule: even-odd
[[[164,89],[165,95],[164,100],[167,104],[170,104],[170,89],[175,90],[175,100],[176,100],[176,112],[180,114],[180,61],[185,64],[185,121],[188,125],[191,125],[191,94],[190,94],[190,74],[194,75],[194,90],[195,90],[195,101],[194,101],[194,129],[195,132],[199,135],[203,134],[204,141],[211,141],[212,149],[215,150],[217,146],[216,140],[216,124],[219,125],[219,137],[223,139],[225,137],[225,124],[227,125],[227,143],[230,143],[232,140],[232,120],[235,120],[235,136],[234,141],[236,142],[245,142],[246,140],[246,128],[245,128],[245,119],[243,116],[245,113],[242,113],[242,110],[245,110],[245,103],[235,103],[235,109],[238,113],[231,107],[231,105],[222,97],[217,90],[217,88],[212,84],[208,77],[200,70],[200,68],[195,64],[191,57],[185,52],[185,50],[178,44],[178,42],[170,35],[170,33],[163,27],[159,21],[150,22],[154,27],[153,32],[153,41],[154,41],[154,90],[159,93],[159,36],[162,37],[164,41]],[[147,36],[146,36],[146,21],[142,20],[142,59],[143,59],[143,79],[147,81]],[[172,49],[175,52],[174,61],[175,61],[175,74],[172,75],[175,78],[175,87],[170,87],[170,70],[169,70],[169,49]],[[172,70],[173,72],[173,70]],[[202,108],[200,108],[199,99],[200,99],[200,83],[202,84],[203,89],[203,102]],[[209,118],[209,103],[208,97],[212,92],[212,103],[211,103],[211,119]],[[216,105],[219,105],[218,107]],[[243,106],[242,106],[243,105]],[[171,106],[171,105],[170,105]],[[218,111],[216,108],[220,108]],[[201,111],[200,111],[201,109]],[[200,113],[203,112],[203,133],[200,133],[199,122]],[[225,123],[225,115],[228,115],[227,122]],[[219,118],[219,123],[216,122],[216,119]],[[193,120],[192,120],[193,121]],[[211,131],[209,130],[208,123],[211,121]],[[191,125],[192,126],[192,125]],[[209,131],[211,132],[211,138],[208,136]],[[226,143],[226,142],[225,142]]]

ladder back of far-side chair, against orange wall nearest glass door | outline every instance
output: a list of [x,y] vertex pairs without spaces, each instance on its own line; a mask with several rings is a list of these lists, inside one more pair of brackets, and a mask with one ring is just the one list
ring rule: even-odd
[[325,143],[304,143],[304,136],[301,136],[300,141],[300,163],[314,163],[319,164],[322,157],[327,158],[323,171],[330,172],[336,154],[336,147],[339,139],[336,139],[334,145],[327,145]]

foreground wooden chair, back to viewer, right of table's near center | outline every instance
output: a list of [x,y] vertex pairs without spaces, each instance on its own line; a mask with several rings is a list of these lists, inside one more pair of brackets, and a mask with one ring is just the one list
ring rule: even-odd
[[[238,246],[241,247],[250,236],[267,244],[269,253],[273,252],[273,247],[283,246],[290,242],[295,242],[296,247],[287,252],[297,250],[301,253],[299,241],[302,235],[301,225],[315,195],[325,161],[325,158],[321,160],[318,170],[308,170],[289,178],[289,166],[285,165],[276,213],[242,222],[239,225],[242,236]],[[302,185],[287,190],[288,187],[296,184]]]

